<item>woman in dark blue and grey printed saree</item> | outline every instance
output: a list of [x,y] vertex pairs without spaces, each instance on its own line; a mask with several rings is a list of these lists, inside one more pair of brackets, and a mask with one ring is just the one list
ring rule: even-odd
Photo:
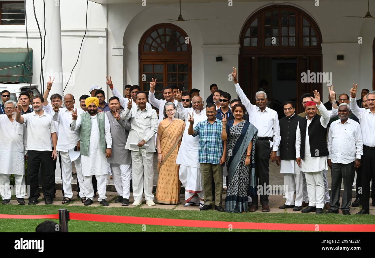
[[[243,119],[245,106],[233,107],[234,120],[223,118],[222,140],[226,143],[228,189],[225,197],[226,212],[248,210],[248,195],[255,193],[255,142],[258,129]],[[226,124],[226,126],[225,126]],[[226,129],[224,129],[226,127]]]

